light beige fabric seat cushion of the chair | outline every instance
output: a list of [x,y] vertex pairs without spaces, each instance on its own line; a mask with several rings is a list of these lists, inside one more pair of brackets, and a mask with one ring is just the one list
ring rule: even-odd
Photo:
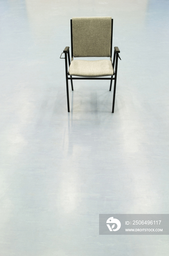
[[114,74],[110,60],[72,60],[69,74],[82,77],[112,76]]

